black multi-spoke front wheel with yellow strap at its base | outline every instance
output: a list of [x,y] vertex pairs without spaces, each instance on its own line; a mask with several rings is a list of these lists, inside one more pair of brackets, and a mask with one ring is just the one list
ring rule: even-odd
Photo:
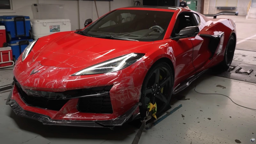
[[157,62],[149,69],[141,87],[140,102],[142,105],[140,106],[140,116],[142,119],[146,116],[149,101],[152,103],[155,100],[157,104],[156,115],[164,112],[171,100],[173,82],[172,69],[167,63]]

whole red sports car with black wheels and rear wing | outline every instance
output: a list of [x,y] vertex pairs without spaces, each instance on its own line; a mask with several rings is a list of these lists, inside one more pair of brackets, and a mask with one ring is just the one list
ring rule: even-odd
[[49,125],[120,126],[157,113],[206,69],[227,69],[236,47],[233,20],[185,8],[119,8],[85,28],[30,43],[16,61],[6,101]]

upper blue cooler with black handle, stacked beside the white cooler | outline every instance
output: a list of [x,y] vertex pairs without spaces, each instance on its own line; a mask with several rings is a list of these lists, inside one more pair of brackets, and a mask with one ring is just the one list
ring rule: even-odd
[[29,39],[30,18],[29,16],[0,16],[0,25],[6,29],[7,42],[20,38]]

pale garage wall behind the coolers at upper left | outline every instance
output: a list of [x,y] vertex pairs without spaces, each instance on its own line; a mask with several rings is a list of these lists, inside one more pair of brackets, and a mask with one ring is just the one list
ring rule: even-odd
[[[114,0],[109,2],[96,1],[99,17],[120,7],[132,6],[134,0]],[[142,0],[140,0],[142,3]],[[93,1],[81,0],[12,0],[15,4],[15,12],[0,13],[0,15],[25,15],[33,19],[32,4],[65,4],[65,18],[71,20],[71,30],[84,27],[86,19],[98,18]]]

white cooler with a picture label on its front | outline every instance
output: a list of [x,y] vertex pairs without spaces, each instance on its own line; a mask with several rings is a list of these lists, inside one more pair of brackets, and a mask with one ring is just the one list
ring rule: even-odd
[[31,23],[34,39],[51,35],[57,32],[71,31],[71,23],[69,19],[32,19]]

